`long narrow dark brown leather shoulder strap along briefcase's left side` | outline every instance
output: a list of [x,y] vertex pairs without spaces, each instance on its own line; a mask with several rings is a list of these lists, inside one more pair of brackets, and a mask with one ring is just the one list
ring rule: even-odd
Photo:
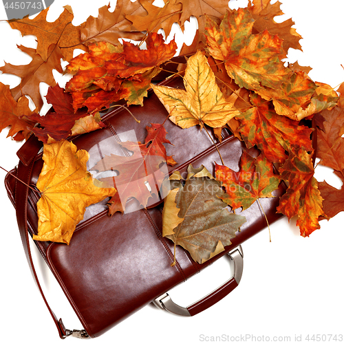
[[[39,150],[41,149],[42,144],[39,142],[39,140],[35,136],[31,136],[25,144],[23,144],[23,147],[19,150],[17,153],[19,155],[19,158],[22,158],[23,156],[28,157],[28,153],[30,153],[30,159],[25,158],[25,160],[20,160],[18,165],[18,173],[17,177],[19,180],[22,180],[25,182],[25,184],[30,184],[31,175],[32,175],[32,168],[34,165],[35,157],[37,153],[39,153]],[[32,276],[34,277],[34,280],[36,281],[36,285],[39,288],[39,291],[41,292],[41,295],[43,297],[43,300],[45,302],[45,305],[47,306],[47,309],[50,312],[50,315],[52,316],[52,319],[54,320],[54,323],[57,327],[58,334],[60,338],[65,338],[67,336],[65,326],[63,325],[62,319],[57,319],[54,312],[52,312],[52,309],[50,308],[50,305],[47,303],[47,299],[45,299],[43,290],[41,288],[41,285],[39,283],[39,279],[36,275],[36,270],[34,269],[34,262],[32,261],[32,255],[30,250],[30,241],[29,241],[29,235],[28,235],[28,195],[29,195],[29,187],[22,182],[19,182],[17,180],[16,182],[16,193],[15,193],[15,203],[16,203],[16,213],[17,213],[17,222],[19,226],[19,233],[21,235],[21,241],[23,243],[23,248],[25,251],[26,259],[28,260],[28,264],[30,266],[30,270],[32,272]]]

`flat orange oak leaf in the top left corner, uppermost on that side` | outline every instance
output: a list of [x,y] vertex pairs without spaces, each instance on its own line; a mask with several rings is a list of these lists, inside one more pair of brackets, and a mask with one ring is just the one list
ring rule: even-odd
[[12,29],[19,30],[21,34],[33,34],[37,37],[36,54],[39,54],[43,61],[49,58],[49,47],[52,44],[58,45],[65,61],[73,58],[74,49],[87,51],[80,39],[80,30],[84,24],[74,26],[73,11],[70,6],[64,6],[65,10],[54,22],[47,21],[47,11],[49,8],[39,12],[34,19],[25,17],[23,19],[10,21]]

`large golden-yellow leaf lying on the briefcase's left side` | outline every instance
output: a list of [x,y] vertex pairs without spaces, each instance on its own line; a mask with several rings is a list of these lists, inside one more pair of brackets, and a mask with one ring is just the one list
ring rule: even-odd
[[87,151],[77,151],[72,142],[44,144],[44,164],[36,184],[41,191],[38,235],[33,239],[69,244],[86,207],[116,193],[87,172],[88,158]]

